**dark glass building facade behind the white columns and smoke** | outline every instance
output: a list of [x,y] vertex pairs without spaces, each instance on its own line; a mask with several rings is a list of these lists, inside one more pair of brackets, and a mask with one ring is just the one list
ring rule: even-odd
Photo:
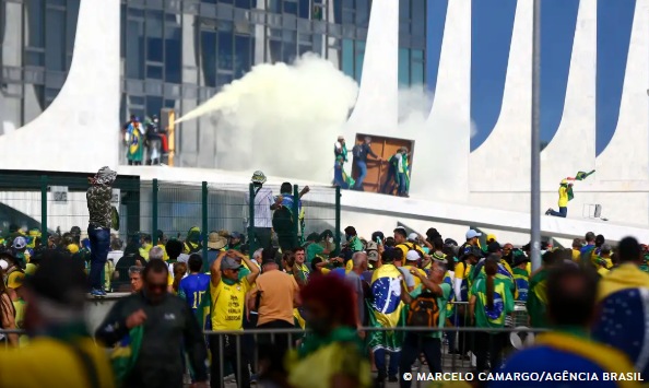
[[[425,83],[426,1],[399,2],[399,83]],[[72,61],[80,0],[0,0],[0,134],[51,104]],[[188,113],[262,62],[307,51],[361,82],[371,0],[122,0],[120,111]],[[186,122],[175,165],[214,167],[209,117]]]

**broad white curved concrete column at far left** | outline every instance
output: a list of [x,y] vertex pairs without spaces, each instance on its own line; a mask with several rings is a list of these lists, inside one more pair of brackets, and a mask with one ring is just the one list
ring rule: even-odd
[[[106,165],[116,167],[119,12],[119,0],[81,1],[68,79],[35,120],[0,136],[2,168],[96,172]],[[25,160],[25,148],[16,144],[30,144],[31,157]]]

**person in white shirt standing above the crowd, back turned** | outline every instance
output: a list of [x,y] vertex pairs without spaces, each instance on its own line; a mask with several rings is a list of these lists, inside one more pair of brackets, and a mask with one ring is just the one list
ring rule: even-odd
[[[253,231],[257,247],[270,248],[271,246],[271,230],[273,227],[271,205],[273,201],[273,192],[269,188],[264,188],[266,175],[262,172],[255,172],[252,174],[252,185],[255,186],[255,220]],[[246,204],[250,204],[250,193],[246,193]],[[250,219],[248,219],[248,225]]]

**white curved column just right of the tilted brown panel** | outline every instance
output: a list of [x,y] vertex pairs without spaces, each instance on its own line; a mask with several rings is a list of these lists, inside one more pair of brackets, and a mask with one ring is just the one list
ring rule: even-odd
[[[415,144],[411,191],[437,200],[464,202],[469,196],[471,138],[471,1],[449,1],[439,57],[435,99],[425,137],[444,143],[426,150]],[[420,139],[417,139],[420,140]],[[435,181],[430,181],[430,166]],[[422,188],[423,186],[427,186]],[[422,189],[421,189],[422,188]]]

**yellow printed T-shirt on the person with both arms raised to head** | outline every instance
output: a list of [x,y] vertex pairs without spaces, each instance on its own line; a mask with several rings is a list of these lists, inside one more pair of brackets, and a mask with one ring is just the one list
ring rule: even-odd
[[244,330],[244,306],[251,287],[247,278],[233,285],[225,284],[223,279],[219,285],[210,285],[213,330]]

